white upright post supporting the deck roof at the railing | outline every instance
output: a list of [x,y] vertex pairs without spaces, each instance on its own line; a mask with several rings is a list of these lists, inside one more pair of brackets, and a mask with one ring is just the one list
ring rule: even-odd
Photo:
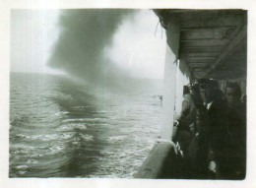
[[177,59],[180,37],[179,23],[174,16],[167,24],[166,36],[168,45],[166,47],[164,67],[161,139],[171,140],[176,94]]

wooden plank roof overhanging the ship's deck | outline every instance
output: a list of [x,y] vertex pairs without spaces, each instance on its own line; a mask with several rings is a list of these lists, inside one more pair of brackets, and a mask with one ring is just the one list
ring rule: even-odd
[[[154,10],[166,31],[170,19],[180,27],[179,54],[194,78],[245,78],[247,11]],[[171,42],[167,39],[167,42]]]

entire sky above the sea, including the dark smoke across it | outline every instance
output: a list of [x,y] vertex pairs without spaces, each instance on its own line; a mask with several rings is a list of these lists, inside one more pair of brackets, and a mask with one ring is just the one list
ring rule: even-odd
[[[101,28],[94,29],[95,23]],[[152,10],[12,10],[11,71],[84,75],[104,65],[109,75],[162,79],[165,40]],[[96,66],[95,61],[107,63]]]

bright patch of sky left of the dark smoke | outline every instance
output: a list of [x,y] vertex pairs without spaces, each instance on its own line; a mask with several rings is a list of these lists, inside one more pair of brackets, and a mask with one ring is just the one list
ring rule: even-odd
[[58,74],[46,66],[58,38],[57,10],[11,11],[11,72]]

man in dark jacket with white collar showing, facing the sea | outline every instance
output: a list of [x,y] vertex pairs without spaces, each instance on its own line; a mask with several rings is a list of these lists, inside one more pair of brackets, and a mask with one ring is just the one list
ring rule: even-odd
[[[218,167],[222,168],[224,140],[226,137],[225,106],[223,93],[218,83],[213,80],[200,80],[200,95],[203,106],[198,109],[197,125],[199,127],[197,151],[198,178],[215,178]],[[222,163],[222,164],[219,164]]]

